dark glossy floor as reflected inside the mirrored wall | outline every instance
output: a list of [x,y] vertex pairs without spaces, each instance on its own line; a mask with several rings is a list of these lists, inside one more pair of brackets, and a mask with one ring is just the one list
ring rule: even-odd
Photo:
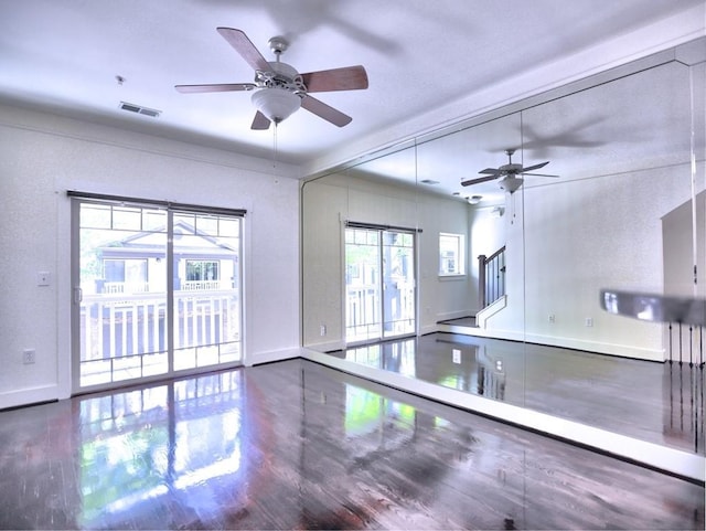
[[704,455],[704,370],[453,333],[331,355]]

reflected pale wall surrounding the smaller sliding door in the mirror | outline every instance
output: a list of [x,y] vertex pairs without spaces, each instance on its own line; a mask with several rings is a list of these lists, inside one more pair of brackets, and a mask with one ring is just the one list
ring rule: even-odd
[[[319,350],[343,347],[342,234],[346,220],[421,230],[417,238],[421,333],[436,330],[440,319],[471,312],[478,295],[470,275],[453,280],[438,276],[439,233],[468,238],[468,203],[340,173],[304,183],[302,204],[304,346]],[[321,325],[327,327],[324,337]]]

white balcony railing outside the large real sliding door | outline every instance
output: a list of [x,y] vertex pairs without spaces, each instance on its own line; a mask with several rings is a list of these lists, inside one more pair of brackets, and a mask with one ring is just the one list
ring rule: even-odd
[[170,333],[175,370],[240,360],[235,290],[174,291],[172,323],[164,293],[110,290],[81,302],[82,386],[165,373]]

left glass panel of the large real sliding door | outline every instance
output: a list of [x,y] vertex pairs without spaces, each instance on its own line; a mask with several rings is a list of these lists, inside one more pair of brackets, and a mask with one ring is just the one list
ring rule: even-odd
[[83,202],[78,220],[79,386],[167,373],[167,211]]

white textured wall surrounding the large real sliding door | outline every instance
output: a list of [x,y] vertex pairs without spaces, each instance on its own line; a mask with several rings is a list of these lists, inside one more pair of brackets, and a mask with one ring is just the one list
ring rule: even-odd
[[0,161],[0,408],[71,393],[67,190],[246,209],[245,362],[298,354],[296,168],[9,106]]

